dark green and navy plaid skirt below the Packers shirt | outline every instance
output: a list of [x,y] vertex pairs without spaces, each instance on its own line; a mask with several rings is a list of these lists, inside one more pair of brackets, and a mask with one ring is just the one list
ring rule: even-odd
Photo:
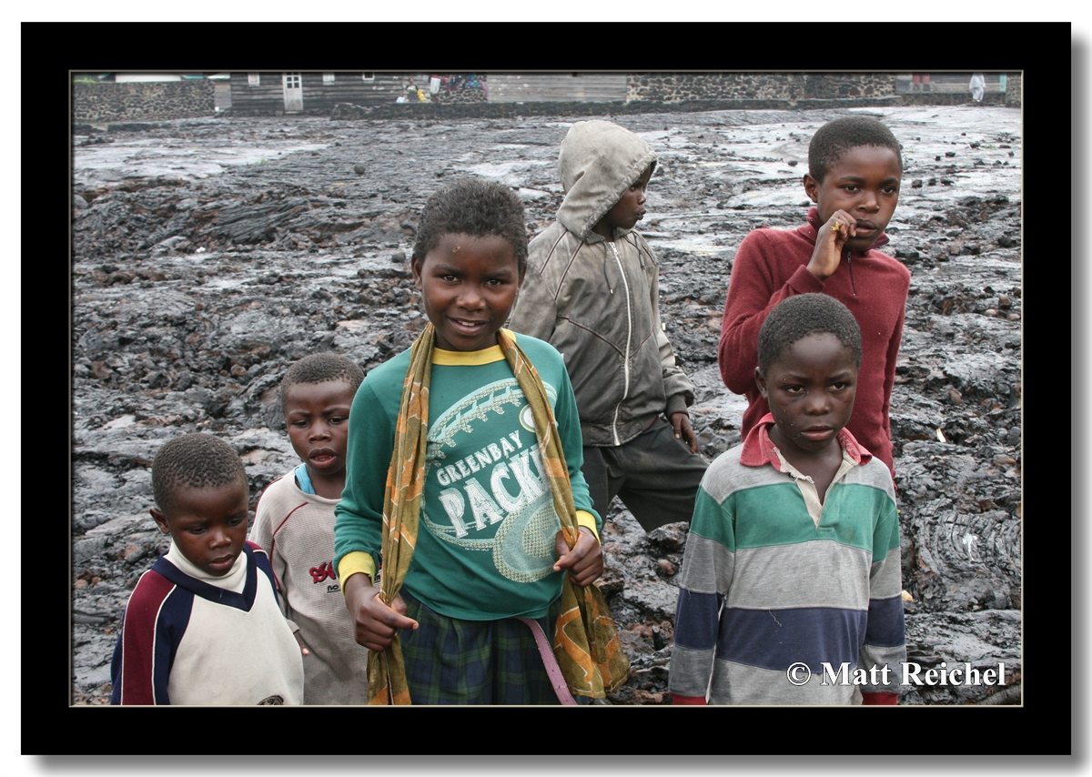
[[[448,618],[404,588],[402,598],[418,623],[399,632],[414,704],[559,704],[526,624]],[[557,609],[538,619],[549,639]]]

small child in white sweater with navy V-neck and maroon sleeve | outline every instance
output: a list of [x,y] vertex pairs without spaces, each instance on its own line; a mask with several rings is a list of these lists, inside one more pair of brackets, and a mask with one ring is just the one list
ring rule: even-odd
[[301,704],[300,648],[269,557],[247,541],[238,454],[212,434],[176,438],[155,455],[152,488],[152,517],[170,550],[129,598],[110,703]]

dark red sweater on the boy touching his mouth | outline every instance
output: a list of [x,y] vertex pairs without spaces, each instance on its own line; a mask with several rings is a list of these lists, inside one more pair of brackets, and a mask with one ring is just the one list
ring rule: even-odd
[[888,465],[892,476],[891,387],[902,340],[902,323],[910,290],[910,271],[876,250],[887,243],[881,235],[865,252],[843,253],[826,282],[807,271],[820,226],[815,207],[808,223],[792,231],[757,229],[744,238],[736,252],[728,284],[728,300],[721,324],[717,363],[724,384],[746,394],[741,434],[747,433],[770,406],[755,384],[758,332],[776,304],[795,294],[821,291],[839,300],[860,325],[862,364],[857,398],[846,429],[870,453]]

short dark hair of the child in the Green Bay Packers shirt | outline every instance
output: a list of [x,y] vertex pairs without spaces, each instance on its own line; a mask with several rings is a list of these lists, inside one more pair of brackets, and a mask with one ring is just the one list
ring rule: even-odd
[[512,246],[521,275],[527,266],[523,201],[511,187],[472,178],[437,191],[422,208],[413,260],[424,261],[444,235],[496,235]]

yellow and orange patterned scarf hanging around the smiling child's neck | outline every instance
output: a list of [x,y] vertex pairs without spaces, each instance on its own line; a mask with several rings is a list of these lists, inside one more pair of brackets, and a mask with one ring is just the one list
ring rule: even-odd
[[[497,342],[531,406],[544,475],[549,479],[554,507],[561,519],[562,535],[572,548],[580,529],[577,526],[569,469],[555,433],[556,421],[546,388],[510,332],[500,330]],[[428,435],[428,384],[435,343],[435,330],[428,324],[413,344],[410,369],[402,385],[394,453],[387,473],[387,495],[383,499],[383,574],[380,597],[388,605],[402,588],[417,541]],[[569,579],[568,573],[565,574],[561,589],[561,610],[554,635],[554,655],[574,695],[603,698],[629,678],[629,660],[621,649],[603,593],[594,583],[580,588]],[[368,688],[369,704],[410,704],[410,688],[397,633],[387,650],[369,650]]]

